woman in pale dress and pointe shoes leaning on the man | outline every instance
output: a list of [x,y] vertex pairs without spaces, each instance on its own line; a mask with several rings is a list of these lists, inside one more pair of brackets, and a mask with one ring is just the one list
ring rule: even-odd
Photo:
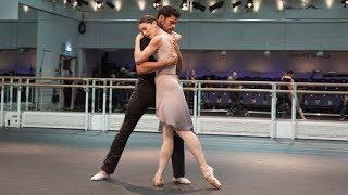
[[[138,67],[147,58],[154,55],[160,62],[178,56],[175,47],[177,37],[162,30],[154,17],[146,15],[139,21],[140,34],[135,42],[135,62]],[[140,51],[142,36],[151,39],[149,46]],[[167,61],[170,62],[170,61]],[[201,172],[207,181],[215,188],[221,188],[221,183],[213,174],[213,169],[207,164],[200,142],[192,132],[192,121],[184,96],[183,89],[176,76],[176,65],[167,64],[156,73],[156,115],[160,119],[160,130],[163,132],[163,143],[160,152],[159,168],[153,178],[153,185],[163,185],[163,172],[173,152],[173,131],[185,141],[197,159]]]

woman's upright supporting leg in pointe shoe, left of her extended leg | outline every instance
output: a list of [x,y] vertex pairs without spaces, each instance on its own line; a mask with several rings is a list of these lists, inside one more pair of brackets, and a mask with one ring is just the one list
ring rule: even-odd
[[[154,176],[154,180],[161,180],[163,177],[163,172],[166,168],[166,165],[172,156],[173,153],[173,130],[169,126],[163,126],[163,142],[162,147],[160,152],[160,159],[159,159],[159,168]],[[156,184],[156,181],[153,181],[153,184]]]

